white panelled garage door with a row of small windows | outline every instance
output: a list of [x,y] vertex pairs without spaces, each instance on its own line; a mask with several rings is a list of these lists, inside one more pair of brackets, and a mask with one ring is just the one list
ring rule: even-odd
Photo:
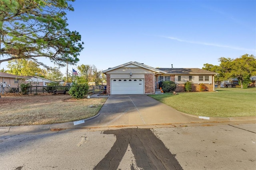
[[144,94],[143,78],[111,79],[111,94]]

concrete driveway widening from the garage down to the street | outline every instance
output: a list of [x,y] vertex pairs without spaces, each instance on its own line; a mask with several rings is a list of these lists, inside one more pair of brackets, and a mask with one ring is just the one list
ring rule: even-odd
[[110,95],[98,117],[78,127],[155,125],[165,123],[200,122],[202,119],[182,114],[166,104],[144,94]]

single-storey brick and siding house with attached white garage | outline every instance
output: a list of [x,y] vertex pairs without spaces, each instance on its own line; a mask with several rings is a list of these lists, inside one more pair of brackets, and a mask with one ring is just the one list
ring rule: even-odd
[[106,74],[107,94],[154,94],[161,81],[174,81],[176,92],[184,92],[184,84],[192,82],[192,91],[204,84],[214,91],[216,72],[200,68],[153,68],[143,63],[129,62],[102,71]]

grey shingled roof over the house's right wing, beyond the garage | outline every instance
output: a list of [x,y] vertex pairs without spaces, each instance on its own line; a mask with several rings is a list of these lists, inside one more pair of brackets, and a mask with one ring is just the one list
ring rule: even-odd
[[218,74],[216,72],[203,70],[200,68],[158,68],[167,74]]

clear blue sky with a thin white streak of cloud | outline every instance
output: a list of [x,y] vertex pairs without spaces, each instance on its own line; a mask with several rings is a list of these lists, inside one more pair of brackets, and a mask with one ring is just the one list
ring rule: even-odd
[[84,42],[77,65],[202,68],[220,57],[256,56],[255,0],[76,0],[72,6],[68,28]]

